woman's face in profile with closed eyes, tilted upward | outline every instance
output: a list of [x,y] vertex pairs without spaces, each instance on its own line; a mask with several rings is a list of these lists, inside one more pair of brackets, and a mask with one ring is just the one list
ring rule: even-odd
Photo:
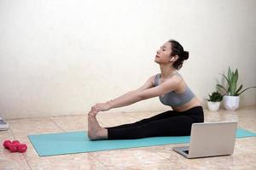
[[172,54],[171,42],[164,43],[159,50],[156,51],[154,62],[158,64],[169,64]]

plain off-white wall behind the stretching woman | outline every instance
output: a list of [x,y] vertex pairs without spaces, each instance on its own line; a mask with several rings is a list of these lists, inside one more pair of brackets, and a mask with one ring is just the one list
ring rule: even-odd
[[[170,38],[189,50],[183,74],[203,100],[228,66],[256,85],[254,0],[1,0],[0,116],[86,113],[159,72]],[[241,95],[256,105],[256,90]],[[148,99],[113,111],[163,111]],[[113,112],[109,111],[109,112]]]

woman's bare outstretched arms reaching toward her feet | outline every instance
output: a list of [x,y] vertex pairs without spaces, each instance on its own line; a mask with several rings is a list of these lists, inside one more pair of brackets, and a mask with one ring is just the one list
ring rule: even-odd
[[[180,79],[172,78],[166,82],[161,83],[159,86],[154,88],[152,85],[152,80],[154,77],[150,77],[148,81],[143,85],[143,87],[138,88],[135,91],[131,91],[125,95],[122,95],[116,99],[110,100],[106,103],[96,104],[93,109],[96,111],[108,111],[113,108],[123,107],[126,105],[134,104],[143,99],[154,98],[166,94],[172,90],[175,90],[177,85],[180,83]],[[148,88],[151,84],[151,88]]]

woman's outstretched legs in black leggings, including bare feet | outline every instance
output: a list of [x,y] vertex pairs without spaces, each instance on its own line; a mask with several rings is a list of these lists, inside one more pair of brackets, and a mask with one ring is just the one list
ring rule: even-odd
[[89,113],[89,138],[90,139],[139,139],[154,136],[180,136],[189,135],[194,122],[203,122],[203,110],[195,107],[185,112],[168,111],[157,116],[144,119],[119,128],[100,127],[96,121],[96,113]]

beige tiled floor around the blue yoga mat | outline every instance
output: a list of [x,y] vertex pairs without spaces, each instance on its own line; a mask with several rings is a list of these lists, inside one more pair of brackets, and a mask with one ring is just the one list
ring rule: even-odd
[[[135,122],[160,112],[101,113],[97,116],[102,126],[114,126]],[[237,120],[238,127],[256,132],[256,106],[244,107],[238,111],[211,112],[205,109],[205,122]],[[236,139],[232,156],[218,156],[201,159],[186,159],[172,151],[173,146],[133,148],[125,150],[98,151],[83,154],[39,157],[33,149],[28,134],[59,133],[87,130],[87,116],[58,116],[8,120],[10,129],[0,131],[0,141],[19,139],[28,145],[24,154],[10,153],[0,146],[0,169],[256,169],[256,137]]]

